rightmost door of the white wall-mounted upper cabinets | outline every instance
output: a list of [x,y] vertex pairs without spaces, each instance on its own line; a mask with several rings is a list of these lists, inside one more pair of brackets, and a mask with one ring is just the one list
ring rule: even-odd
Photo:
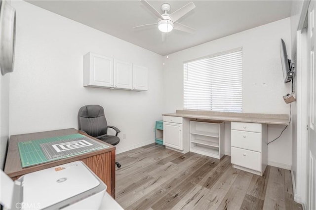
[[146,67],[141,67],[133,64],[133,89],[148,89],[148,70]]

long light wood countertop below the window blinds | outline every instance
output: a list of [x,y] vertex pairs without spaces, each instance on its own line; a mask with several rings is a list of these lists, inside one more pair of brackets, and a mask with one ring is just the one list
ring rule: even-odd
[[201,110],[176,110],[175,113],[166,113],[162,115],[202,120],[289,125],[289,116],[287,114],[258,114]]

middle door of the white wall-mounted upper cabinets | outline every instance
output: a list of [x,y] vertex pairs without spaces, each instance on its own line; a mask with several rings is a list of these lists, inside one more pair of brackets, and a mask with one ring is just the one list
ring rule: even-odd
[[132,64],[114,60],[114,86],[116,88],[132,89]]

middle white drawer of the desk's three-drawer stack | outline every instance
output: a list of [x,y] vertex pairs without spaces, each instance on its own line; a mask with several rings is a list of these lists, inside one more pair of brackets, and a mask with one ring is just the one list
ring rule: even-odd
[[261,134],[231,130],[231,146],[261,152]]

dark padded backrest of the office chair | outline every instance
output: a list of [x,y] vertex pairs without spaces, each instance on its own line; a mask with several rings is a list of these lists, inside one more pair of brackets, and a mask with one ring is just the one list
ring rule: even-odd
[[92,137],[98,137],[108,133],[108,123],[104,115],[104,109],[100,105],[85,105],[78,112],[79,130]]

